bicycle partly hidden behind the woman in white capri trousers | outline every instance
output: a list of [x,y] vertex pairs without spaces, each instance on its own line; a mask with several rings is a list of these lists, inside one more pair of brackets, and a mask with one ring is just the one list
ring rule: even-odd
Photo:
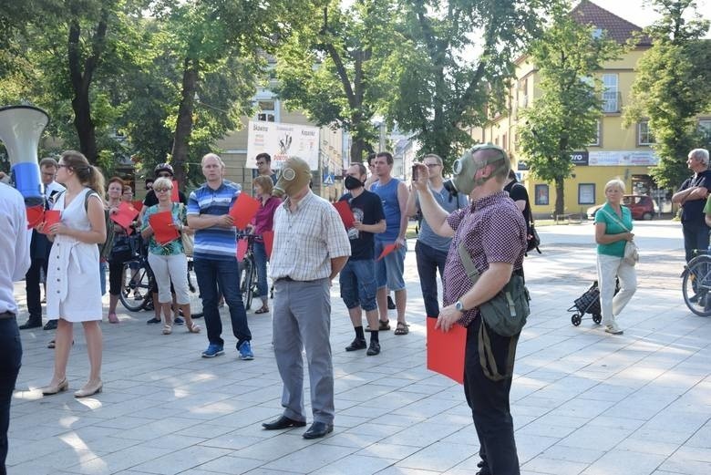
[[[128,278],[128,282],[124,282],[124,284],[121,285],[121,293],[118,295],[118,299],[130,312],[153,310],[153,293],[158,292],[158,290],[155,283],[155,276],[150,270],[148,262],[148,249],[142,245],[139,236],[131,236],[129,239],[131,240],[133,258],[123,264],[124,280]],[[198,279],[195,275],[192,257],[188,256],[187,259],[188,294],[190,296],[191,315],[194,318],[200,318],[203,315],[200,287],[198,286]],[[137,290],[142,295],[140,300],[132,296]]]

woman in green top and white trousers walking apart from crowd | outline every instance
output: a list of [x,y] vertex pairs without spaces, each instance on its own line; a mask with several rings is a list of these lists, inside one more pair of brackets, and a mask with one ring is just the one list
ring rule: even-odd
[[[637,290],[634,265],[625,263],[624,245],[632,241],[632,212],[622,205],[624,182],[611,180],[605,185],[607,202],[595,213],[595,242],[597,243],[597,279],[600,285],[600,306],[605,331],[622,335],[615,317]],[[620,292],[614,294],[615,278],[620,279]]]

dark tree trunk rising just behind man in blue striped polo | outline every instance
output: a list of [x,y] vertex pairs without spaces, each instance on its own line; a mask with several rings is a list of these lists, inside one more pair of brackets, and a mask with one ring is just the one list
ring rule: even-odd
[[187,176],[185,163],[188,161],[188,140],[192,133],[192,111],[194,108],[195,92],[198,87],[198,64],[191,58],[185,58],[182,72],[182,90],[178,120],[175,125],[173,150],[170,152],[171,163],[175,170],[175,180],[180,188],[185,189]]

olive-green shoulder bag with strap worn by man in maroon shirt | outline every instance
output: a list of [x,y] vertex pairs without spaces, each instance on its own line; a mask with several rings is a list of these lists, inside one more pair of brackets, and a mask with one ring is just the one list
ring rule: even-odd
[[[479,271],[471,260],[469,251],[462,240],[457,246],[461,259],[471,284],[479,280]],[[479,305],[481,325],[479,326],[479,364],[484,376],[491,381],[500,381],[513,376],[513,362],[516,359],[516,344],[519,342],[520,332],[526,325],[526,320],[531,314],[531,294],[520,274],[511,274],[509,282],[503,286],[498,294],[490,300]],[[509,336],[509,355],[507,356],[506,373],[501,375],[496,366],[494,354],[491,351],[491,341],[487,327],[500,336]],[[490,369],[489,369],[490,368]]]

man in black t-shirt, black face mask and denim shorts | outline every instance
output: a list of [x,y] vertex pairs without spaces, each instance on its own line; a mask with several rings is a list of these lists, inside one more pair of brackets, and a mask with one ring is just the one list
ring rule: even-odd
[[345,263],[339,280],[341,298],[348,307],[348,315],[356,331],[356,339],[345,347],[345,351],[366,348],[366,336],[363,333],[363,310],[365,310],[368,325],[373,329],[370,332],[370,346],[366,355],[375,356],[380,353],[380,341],[377,333],[374,234],[386,230],[386,221],[380,198],[364,188],[366,176],[366,167],[362,163],[352,165],[345,172],[344,186],[350,192],[345,193],[340,201],[348,202],[356,221],[353,227],[347,230],[351,241],[351,257]]

